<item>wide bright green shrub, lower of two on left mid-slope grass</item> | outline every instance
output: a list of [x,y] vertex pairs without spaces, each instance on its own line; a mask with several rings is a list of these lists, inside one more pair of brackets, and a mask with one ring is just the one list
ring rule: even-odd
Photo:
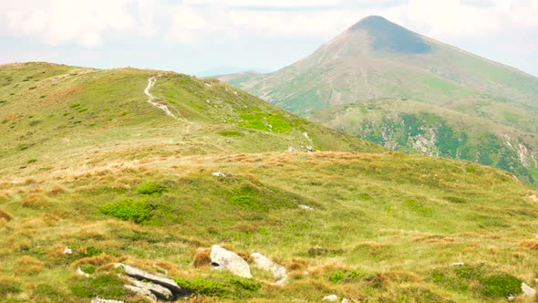
[[99,208],[102,214],[112,215],[120,220],[142,223],[151,217],[150,205],[144,201],[123,200]]

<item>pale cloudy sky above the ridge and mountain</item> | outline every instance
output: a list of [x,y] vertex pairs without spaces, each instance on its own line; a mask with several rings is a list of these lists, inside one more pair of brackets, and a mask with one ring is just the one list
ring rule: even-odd
[[0,64],[272,71],[361,18],[538,76],[538,0],[1,0]]

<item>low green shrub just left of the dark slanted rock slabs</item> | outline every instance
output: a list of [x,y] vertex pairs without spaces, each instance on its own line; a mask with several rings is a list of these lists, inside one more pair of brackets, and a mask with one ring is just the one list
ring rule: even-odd
[[71,292],[82,298],[121,298],[127,294],[119,277],[110,275],[78,279],[71,287]]

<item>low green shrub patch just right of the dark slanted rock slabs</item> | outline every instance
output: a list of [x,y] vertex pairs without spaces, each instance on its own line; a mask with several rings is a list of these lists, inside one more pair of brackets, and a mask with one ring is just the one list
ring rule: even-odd
[[262,287],[260,282],[230,274],[222,277],[176,277],[176,283],[187,292],[221,299],[252,298]]

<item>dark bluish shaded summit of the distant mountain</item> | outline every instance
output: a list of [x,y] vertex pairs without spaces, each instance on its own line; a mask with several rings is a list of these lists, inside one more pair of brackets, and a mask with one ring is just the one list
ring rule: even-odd
[[367,16],[348,31],[366,31],[373,38],[374,49],[404,54],[424,54],[431,47],[419,34],[398,26],[382,16]]

